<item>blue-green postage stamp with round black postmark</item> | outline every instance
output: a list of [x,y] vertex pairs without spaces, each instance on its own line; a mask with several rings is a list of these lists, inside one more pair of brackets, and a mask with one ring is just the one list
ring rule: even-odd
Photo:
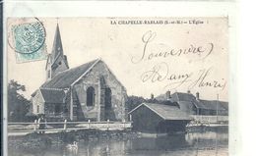
[[17,63],[46,59],[46,32],[39,21],[14,25],[11,33]]

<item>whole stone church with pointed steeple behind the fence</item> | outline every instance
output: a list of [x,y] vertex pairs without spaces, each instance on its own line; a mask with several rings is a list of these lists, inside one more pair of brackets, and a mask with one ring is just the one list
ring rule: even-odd
[[46,81],[32,93],[32,114],[48,121],[125,121],[126,88],[100,59],[69,69],[59,26],[46,61]]

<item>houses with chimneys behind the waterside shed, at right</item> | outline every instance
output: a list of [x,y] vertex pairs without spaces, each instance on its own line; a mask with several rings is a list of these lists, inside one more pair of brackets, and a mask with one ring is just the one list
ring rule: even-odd
[[204,100],[200,99],[199,92],[194,96],[190,91],[184,92],[174,92],[170,94],[167,91],[156,98],[160,101],[170,101],[177,103],[180,110],[186,112],[190,115],[205,115],[205,116],[227,116],[228,115],[228,102],[219,100]]

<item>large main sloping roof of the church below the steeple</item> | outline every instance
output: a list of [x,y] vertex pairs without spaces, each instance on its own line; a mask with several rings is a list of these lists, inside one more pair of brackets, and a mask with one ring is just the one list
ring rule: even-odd
[[44,82],[41,85],[41,88],[67,88],[70,87],[70,85],[80,78],[83,74],[85,74],[88,70],[90,70],[99,59],[96,59],[94,61],[91,61],[89,63],[86,63],[84,65],[81,65],[79,67],[66,70],[64,72],[61,72],[57,74],[54,78]]

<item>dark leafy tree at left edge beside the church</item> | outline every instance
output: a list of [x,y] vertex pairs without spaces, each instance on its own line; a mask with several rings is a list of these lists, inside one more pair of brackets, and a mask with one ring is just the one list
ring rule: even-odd
[[25,85],[12,79],[8,83],[8,120],[9,122],[22,122],[26,120],[31,102],[20,92],[26,91]]

